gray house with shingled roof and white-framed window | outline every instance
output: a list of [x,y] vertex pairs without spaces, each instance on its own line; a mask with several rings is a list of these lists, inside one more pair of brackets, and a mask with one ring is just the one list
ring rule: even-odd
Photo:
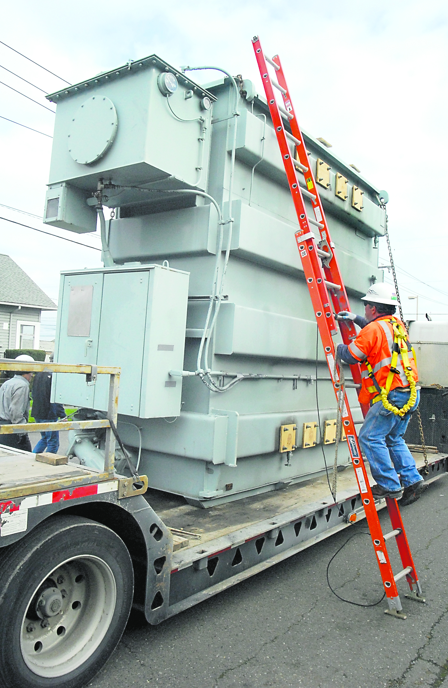
[[12,258],[0,254],[0,356],[6,349],[39,349],[43,310],[57,306]]

